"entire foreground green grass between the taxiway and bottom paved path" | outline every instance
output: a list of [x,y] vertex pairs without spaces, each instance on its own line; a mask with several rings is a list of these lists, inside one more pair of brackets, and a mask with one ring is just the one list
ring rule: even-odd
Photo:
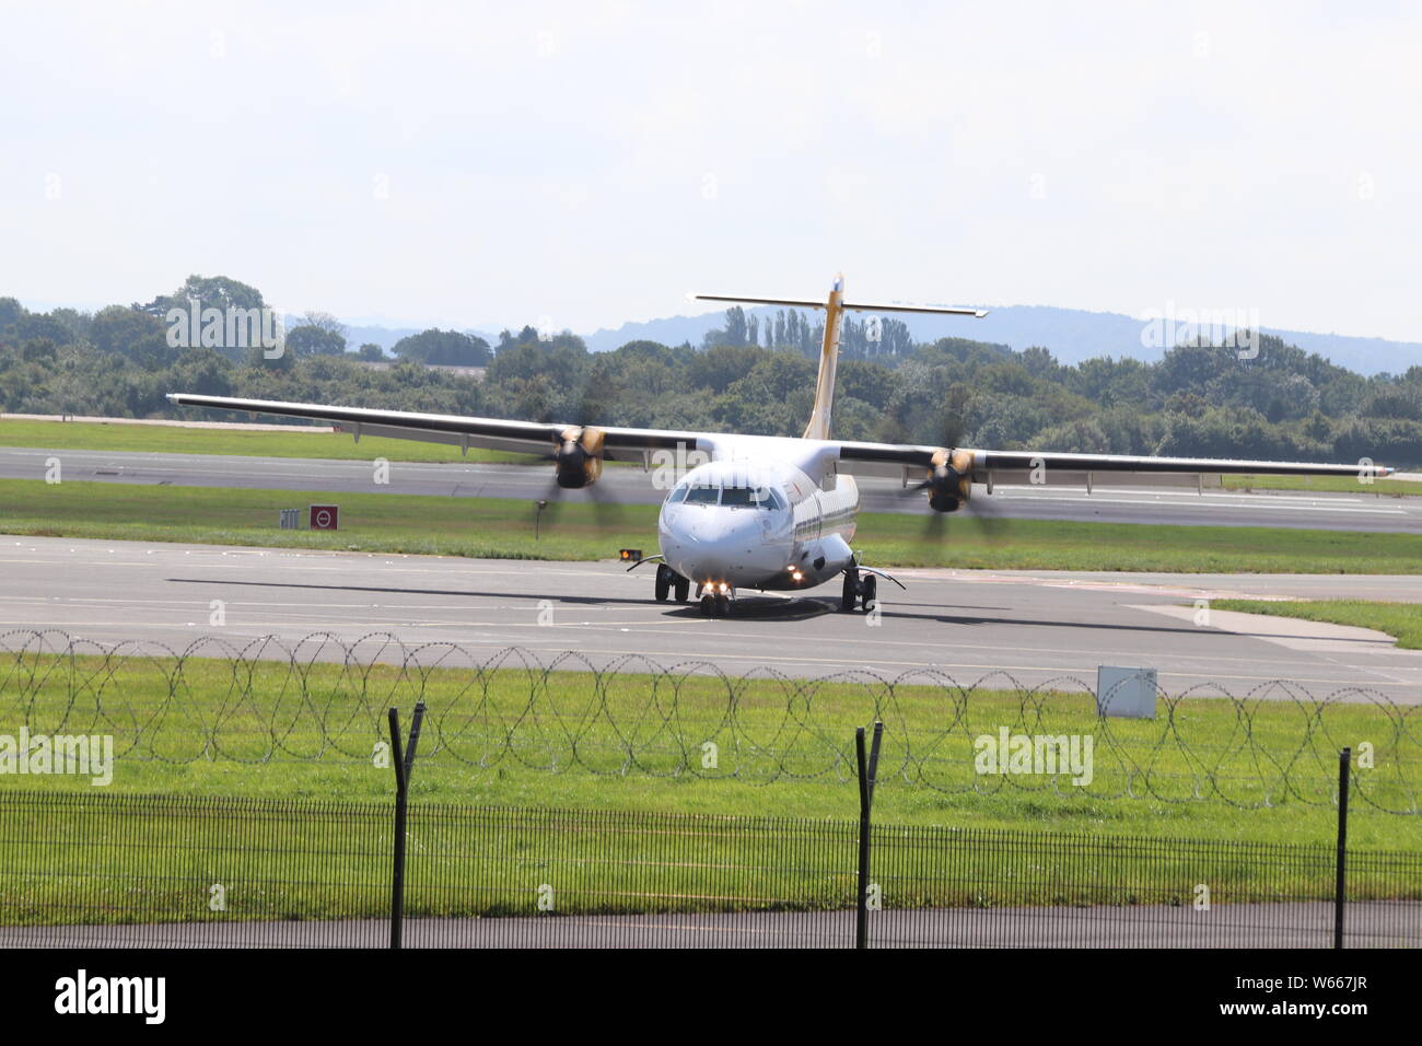
[[[1267,891],[1281,882],[1327,895],[1327,845],[1317,868],[1291,878],[1237,850],[1139,840],[1327,844],[1337,746],[1362,740],[1375,767],[1358,770],[1351,844],[1422,850],[1422,818],[1379,810],[1415,811],[1422,750],[1405,709],[1187,699],[1153,722],[1101,720],[1081,693],[906,686],[890,700],[848,683],[734,680],[732,693],[724,680],[634,673],[9,655],[4,722],[108,731],[118,759],[105,790],[80,777],[0,777],[14,800],[3,807],[6,838],[31,842],[0,847],[0,921],[213,919],[212,882],[232,887],[222,918],[378,915],[392,771],[373,756],[387,704],[405,710],[408,729],[417,686],[429,712],[411,787],[412,915],[532,914],[542,882],[557,884],[565,912],[845,907],[853,729],[876,714],[886,723],[876,874],[890,907],[1189,904],[1204,867],[1220,902],[1276,899]],[[1091,734],[1094,780],[978,774],[973,740],[1000,726]],[[714,767],[702,763],[707,741]],[[46,801],[63,796],[74,804]],[[85,803],[95,796],[135,805],[114,814]],[[165,796],[201,803],[165,805]],[[344,805],[293,815],[225,804],[253,797]],[[574,813],[539,813],[557,808]],[[658,824],[657,813],[714,820]],[[796,821],[725,820],[766,815]],[[940,837],[926,874],[912,828],[929,825],[1015,834],[964,837],[951,855]],[[1091,858],[1066,868],[1064,834],[1082,840],[1076,848],[1086,837],[1121,845],[1101,868]],[[48,838],[82,845],[33,845]],[[1399,889],[1412,895],[1416,884],[1399,885],[1386,864],[1359,860],[1349,879],[1358,899]],[[77,915],[75,898],[95,892],[101,904]]]

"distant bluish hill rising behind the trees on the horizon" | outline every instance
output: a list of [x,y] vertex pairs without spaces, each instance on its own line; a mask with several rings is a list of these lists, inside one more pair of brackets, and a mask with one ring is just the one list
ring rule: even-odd
[[[1084,309],[1055,309],[1042,305],[987,306],[988,315],[981,320],[948,319],[936,316],[903,315],[899,319],[909,324],[917,342],[934,342],[940,337],[970,337],[974,342],[994,342],[1027,349],[1042,346],[1066,364],[1081,363],[1095,356],[1133,357],[1145,361],[1159,360],[1160,347],[1142,344],[1143,322],[1122,313],[1086,312]],[[774,316],[774,307],[752,309],[758,316]],[[597,330],[583,334],[593,352],[617,349],[627,342],[650,340],[663,344],[690,342],[701,344],[708,330],[720,327],[724,313],[705,316],[670,316],[647,323],[624,323],[616,330]],[[1422,364],[1422,343],[1388,342],[1381,337],[1351,337],[1348,334],[1314,334],[1301,330],[1278,330],[1264,327],[1264,333],[1277,334],[1288,344],[1318,353],[1324,359],[1358,371],[1378,374],[1388,371],[1401,374],[1408,367]]]

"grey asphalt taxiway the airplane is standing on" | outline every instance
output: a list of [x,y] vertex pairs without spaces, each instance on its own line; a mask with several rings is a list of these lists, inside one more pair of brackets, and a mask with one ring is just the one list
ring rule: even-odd
[[[394,653],[363,638],[449,643],[445,663],[506,648],[552,662],[573,650],[616,666],[658,665],[813,677],[933,672],[960,685],[1095,686],[1099,665],[1153,667],[1167,692],[1243,696],[1291,680],[1315,697],[1367,687],[1422,703],[1422,652],[1384,635],[1209,609],[1223,596],[1422,599],[1415,576],[1159,575],[1062,571],[896,571],[877,618],[838,612],[835,585],[805,595],[742,593],[734,616],[653,599],[653,571],[617,562],[461,559],[363,552],[0,538],[0,646],[33,630],[181,652],[215,636],[262,636],[303,656]],[[223,623],[212,625],[222,605]],[[1202,608],[1200,601],[1204,601]],[[324,646],[323,646],[324,643]],[[320,648],[320,649],[319,649]],[[368,650],[361,653],[361,650]],[[264,656],[286,656],[270,648]],[[631,666],[636,669],[636,665]],[[993,683],[993,680],[997,680]]]

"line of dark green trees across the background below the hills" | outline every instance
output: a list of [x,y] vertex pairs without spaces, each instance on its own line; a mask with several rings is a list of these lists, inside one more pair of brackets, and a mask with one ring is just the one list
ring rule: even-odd
[[[566,332],[505,330],[489,346],[431,329],[404,339],[398,361],[377,370],[364,361],[378,357],[378,347],[351,350],[344,327],[324,313],[307,313],[287,330],[279,359],[266,359],[260,347],[173,347],[164,316],[189,299],[203,307],[262,307],[253,287],[198,276],[146,305],[95,313],[31,313],[0,299],[0,410],[193,417],[164,398],[188,391],[798,435],[811,413],[822,334],[798,310],[757,324],[739,309],[728,310],[700,347],[631,342],[590,353]],[[1254,359],[1196,343],[1170,349],[1158,363],[1099,357],[1064,366],[1039,347],[1014,352],[967,339],[916,344],[900,327],[884,322],[873,330],[877,337],[867,337],[866,322],[846,324],[838,437],[1422,464],[1422,367],[1364,377],[1267,334]],[[486,370],[476,379],[425,366],[434,363]]]

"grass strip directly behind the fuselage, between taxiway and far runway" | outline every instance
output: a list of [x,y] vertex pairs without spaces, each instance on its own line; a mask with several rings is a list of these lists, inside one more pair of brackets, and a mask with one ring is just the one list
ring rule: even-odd
[[[333,501],[338,532],[283,531],[279,509]],[[1246,574],[1422,574],[1422,535],[951,517],[860,515],[855,545],[879,566]],[[46,484],[0,480],[0,532],[518,559],[603,559],[657,549],[657,508],[600,511],[567,495],[539,539],[532,501],[397,494]]]

